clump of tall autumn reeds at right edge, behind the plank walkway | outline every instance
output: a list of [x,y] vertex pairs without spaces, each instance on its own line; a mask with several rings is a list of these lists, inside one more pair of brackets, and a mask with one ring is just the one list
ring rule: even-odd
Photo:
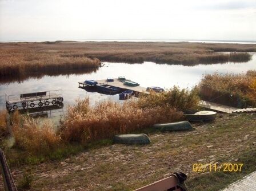
[[233,107],[254,107],[256,104],[256,71],[246,74],[207,74],[200,84],[203,100]]

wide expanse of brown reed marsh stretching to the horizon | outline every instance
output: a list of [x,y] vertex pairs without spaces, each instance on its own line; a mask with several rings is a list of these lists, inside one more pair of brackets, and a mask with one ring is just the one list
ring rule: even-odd
[[[219,54],[217,51],[237,51]],[[62,74],[67,70],[97,68],[98,59],[109,62],[194,65],[246,62],[255,44],[166,42],[42,42],[0,43],[0,76]]]

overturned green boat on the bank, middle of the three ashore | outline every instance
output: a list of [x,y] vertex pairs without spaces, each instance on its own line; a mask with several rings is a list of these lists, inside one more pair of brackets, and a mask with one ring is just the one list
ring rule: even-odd
[[194,129],[189,121],[179,121],[176,123],[159,123],[154,124],[153,128],[158,129],[159,131],[185,131]]

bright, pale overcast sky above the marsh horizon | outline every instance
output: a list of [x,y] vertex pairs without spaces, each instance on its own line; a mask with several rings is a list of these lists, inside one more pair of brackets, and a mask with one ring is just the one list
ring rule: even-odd
[[256,0],[0,0],[0,41],[256,40]]

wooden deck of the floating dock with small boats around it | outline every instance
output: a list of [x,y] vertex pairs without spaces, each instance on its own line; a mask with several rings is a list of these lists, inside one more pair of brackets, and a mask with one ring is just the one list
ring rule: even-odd
[[131,87],[131,86],[126,86],[123,84],[123,81],[118,80],[118,78],[114,78],[114,82],[107,82],[107,79],[104,80],[95,80],[95,82],[98,82],[97,85],[90,85],[90,84],[86,84],[85,82],[78,82],[78,87],[79,88],[85,88],[86,86],[102,86],[102,85],[109,85],[109,86],[114,86],[114,87],[118,87],[121,88],[123,90],[133,90],[134,92],[139,92],[139,93],[148,93],[146,92],[147,88],[145,87],[141,87],[141,86],[135,86],[135,87]]

